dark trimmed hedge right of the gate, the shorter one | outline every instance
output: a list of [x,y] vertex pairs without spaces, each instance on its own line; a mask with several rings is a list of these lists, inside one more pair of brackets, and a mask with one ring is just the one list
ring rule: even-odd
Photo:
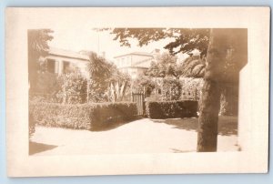
[[148,118],[190,118],[197,117],[197,101],[147,101]]

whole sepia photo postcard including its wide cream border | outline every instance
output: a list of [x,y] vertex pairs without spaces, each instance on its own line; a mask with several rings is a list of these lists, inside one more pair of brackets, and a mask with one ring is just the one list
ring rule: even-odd
[[267,172],[268,10],[7,8],[9,175]]

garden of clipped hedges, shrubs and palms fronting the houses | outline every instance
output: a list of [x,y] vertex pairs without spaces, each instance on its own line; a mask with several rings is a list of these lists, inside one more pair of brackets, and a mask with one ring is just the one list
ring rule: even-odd
[[[142,118],[149,118],[148,122],[178,118],[183,119],[181,123],[187,123],[199,116],[200,107],[204,106],[202,94],[206,92],[204,53],[207,50],[191,47],[188,51],[199,49],[200,55],[188,53],[183,62],[178,62],[171,50],[162,53],[136,78],[121,72],[106,57],[84,51],[81,54],[88,57],[87,77],[74,65],[56,74],[49,71],[48,62],[43,60],[48,54],[47,41],[53,39],[50,34],[51,30],[47,29],[28,33],[30,139],[35,137],[36,127],[96,132]],[[223,83],[219,88],[218,115],[236,117],[237,83]],[[141,97],[134,97],[134,91]]]

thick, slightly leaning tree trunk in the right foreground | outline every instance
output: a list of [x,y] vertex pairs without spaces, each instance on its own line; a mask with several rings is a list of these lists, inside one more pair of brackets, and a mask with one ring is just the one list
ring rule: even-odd
[[197,151],[217,151],[217,122],[221,90],[219,81],[224,73],[228,49],[225,29],[211,29],[207,49],[207,66],[200,100]]

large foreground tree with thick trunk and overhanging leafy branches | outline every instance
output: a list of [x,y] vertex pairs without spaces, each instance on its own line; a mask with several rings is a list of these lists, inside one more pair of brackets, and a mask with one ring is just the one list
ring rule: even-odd
[[207,54],[197,151],[216,151],[220,89],[222,84],[238,83],[238,72],[248,61],[247,29],[115,28],[112,34],[121,46],[130,46],[131,38],[144,46],[151,41],[173,37],[175,41],[165,46],[171,54],[189,53],[195,49],[201,52],[201,58]]

